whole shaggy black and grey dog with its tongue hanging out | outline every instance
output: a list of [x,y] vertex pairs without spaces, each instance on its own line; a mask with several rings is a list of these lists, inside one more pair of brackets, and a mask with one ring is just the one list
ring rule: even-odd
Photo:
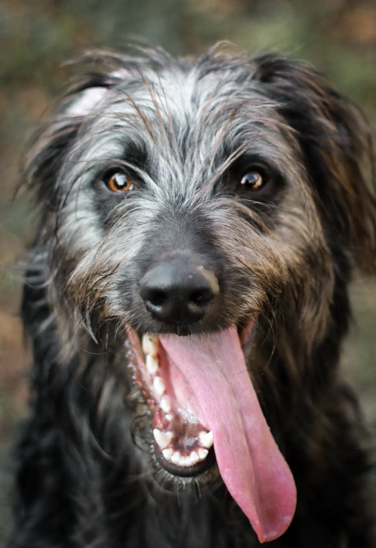
[[83,56],[23,179],[30,417],[12,548],[371,548],[341,376],[372,132],[312,67]]

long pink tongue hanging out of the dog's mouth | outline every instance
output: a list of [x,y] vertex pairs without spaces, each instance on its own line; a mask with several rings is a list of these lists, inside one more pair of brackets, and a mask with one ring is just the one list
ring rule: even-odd
[[214,434],[229,493],[261,543],[278,538],[294,516],[295,483],[262,414],[237,330],[159,339],[170,373],[185,379],[190,407]]

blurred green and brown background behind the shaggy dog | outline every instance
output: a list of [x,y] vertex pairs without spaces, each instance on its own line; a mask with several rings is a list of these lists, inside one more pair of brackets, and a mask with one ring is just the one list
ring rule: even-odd
[[[229,39],[251,53],[282,50],[327,73],[376,126],[376,0],[0,0],[0,546],[9,524],[10,442],[27,412],[18,318],[21,271],[32,238],[27,195],[13,199],[26,141],[68,76],[62,63],[87,48],[143,37],[174,55]],[[353,283],[347,374],[376,424],[376,283]]]

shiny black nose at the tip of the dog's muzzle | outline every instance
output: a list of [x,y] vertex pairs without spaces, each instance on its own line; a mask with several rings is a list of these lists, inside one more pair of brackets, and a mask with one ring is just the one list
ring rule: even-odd
[[214,272],[186,258],[159,262],[140,282],[145,307],[155,318],[169,323],[197,322],[218,292]]

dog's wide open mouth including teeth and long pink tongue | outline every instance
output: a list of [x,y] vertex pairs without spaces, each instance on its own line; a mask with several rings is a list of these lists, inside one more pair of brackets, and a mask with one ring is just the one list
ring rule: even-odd
[[174,476],[216,461],[223,482],[260,542],[288,528],[296,505],[291,471],[266,423],[243,348],[254,324],[179,336],[128,329],[133,382],[152,419],[155,454]]

